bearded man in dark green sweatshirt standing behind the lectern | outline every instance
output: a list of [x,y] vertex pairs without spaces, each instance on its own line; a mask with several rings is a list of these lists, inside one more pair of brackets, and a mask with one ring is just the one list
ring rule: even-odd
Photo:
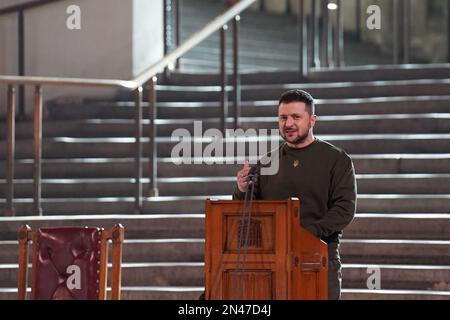
[[[328,244],[328,298],[340,299],[339,239],[356,210],[355,170],[342,149],[314,137],[314,109],[314,100],[305,91],[290,90],[281,95],[278,125],[285,143],[278,150],[279,170],[259,176],[254,199],[300,199],[303,228]],[[249,170],[246,162],[238,172],[234,199],[244,199]]]

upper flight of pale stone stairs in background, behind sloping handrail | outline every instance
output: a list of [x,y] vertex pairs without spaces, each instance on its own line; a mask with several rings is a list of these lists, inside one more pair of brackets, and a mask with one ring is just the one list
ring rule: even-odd
[[[222,0],[184,1],[181,10],[181,41],[227,9]],[[353,14],[353,13],[349,13]],[[227,67],[232,70],[233,24],[227,31]],[[246,10],[239,27],[239,68],[242,72],[295,70],[299,66],[298,25],[294,14]],[[345,34],[344,63],[347,66],[389,64],[392,57],[379,47]],[[217,73],[220,61],[219,33],[200,43],[180,59],[183,72]]]

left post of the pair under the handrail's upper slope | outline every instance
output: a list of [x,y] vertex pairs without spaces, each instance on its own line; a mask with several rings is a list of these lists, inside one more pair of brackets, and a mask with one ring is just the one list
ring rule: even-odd
[[225,134],[227,128],[228,117],[228,93],[227,93],[227,30],[228,26],[224,25],[220,29],[220,81],[221,81],[221,97],[220,97],[220,129]]

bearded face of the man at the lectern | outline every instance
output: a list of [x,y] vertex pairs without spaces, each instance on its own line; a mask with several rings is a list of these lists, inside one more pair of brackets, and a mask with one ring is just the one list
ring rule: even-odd
[[286,142],[302,143],[308,137],[317,117],[310,115],[304,102],[281,103],[278,107],[278,128]]

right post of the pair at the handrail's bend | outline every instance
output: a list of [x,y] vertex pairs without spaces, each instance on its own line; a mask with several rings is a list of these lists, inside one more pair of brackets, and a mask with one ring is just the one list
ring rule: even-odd
[[149,156],[149,175],[150,175],[150,197],[157,197],[158,191],[158,150],[156,145],[156,83],[158,79],[152,77],[149,81],[149,91],[148,91],[148,120],[149,120],[149,143],[150,143],[150,156]]

